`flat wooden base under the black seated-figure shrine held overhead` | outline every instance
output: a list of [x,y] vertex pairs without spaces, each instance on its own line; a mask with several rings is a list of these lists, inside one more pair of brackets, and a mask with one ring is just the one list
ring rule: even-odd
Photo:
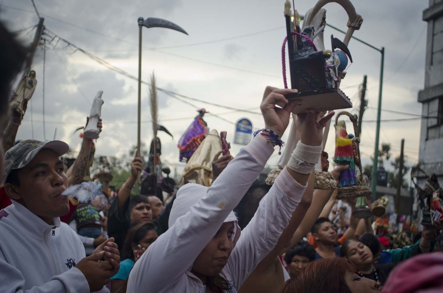
[[[331,88],[323,91],[305,91],[285,95],[288,100],[297,100],[302,104],[294,108],[292,113],[306,113],[307,109],[314,109],[316,112],[326,110],[338,110],[352,108],[350,99],[338,88]],[[283,107],[283,105],[280,105]]]

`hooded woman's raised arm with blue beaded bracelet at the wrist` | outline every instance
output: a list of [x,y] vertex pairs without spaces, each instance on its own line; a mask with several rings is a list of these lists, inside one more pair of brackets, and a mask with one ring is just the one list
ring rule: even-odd
[[[288,103],[284,98],[284,94],[290,92],[293,90],[268,87],[260,106],[265,128],[272,129],[279,136],[288,126],[289,113],[294,106],[294,103]],[[285,103],[286,106],[276,110],[277,102]],[[240,202],[273,151],[274,147],[261,135],[257,135],[241,149],[217,180],[206,189],[206,194],[185,215],[179,217],[167,232],[159,236],[136,262],[129,275],[127,292],[143,292],[146,288],[150,288],[151,292],[165,292],[179,278],[187,278],[184,275],[186,271]],[[186,196],[187,190],[195,188],[193,184],[182,186],[175,204],[180,196]]]

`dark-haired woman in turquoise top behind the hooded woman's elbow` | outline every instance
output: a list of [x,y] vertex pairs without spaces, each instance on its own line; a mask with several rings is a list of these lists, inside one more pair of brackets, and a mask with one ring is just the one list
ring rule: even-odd
[[129,273],[144,251],[157,239],[157,232],[152,223],[140,223],[128,231],[124,240],[117,274],[111,277],[111,293],[125,293],[128,284]]

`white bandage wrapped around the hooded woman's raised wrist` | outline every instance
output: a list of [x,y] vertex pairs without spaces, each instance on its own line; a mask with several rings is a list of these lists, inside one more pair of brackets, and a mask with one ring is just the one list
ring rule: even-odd
[[299,141],[291,154],[288,167],[299,173],[309,174],[319,161],[321,153],[321,145],[305,145]]

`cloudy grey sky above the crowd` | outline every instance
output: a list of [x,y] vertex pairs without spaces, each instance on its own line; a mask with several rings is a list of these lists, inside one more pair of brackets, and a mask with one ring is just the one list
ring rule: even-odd
[[[382,120],[414,118],[393,114],[395,110],[421,114],[417,92],[424,86],[426,23],[422,11],[427,1],[417,0],[354,0],[357,13],[364,21],[355,37],[373,46],[385,47]],[[203,1],[203,0],[35,0],[50,36],[54,34],[104,59],[130,74],[138,74],[139,16],[159,17],[177,23],[189,35],[163,28],[143,29],[142,79],[148,80],[154,70],[157,85],[181,95],[222,104],[236,109],[260,112],[261,95],[266,85],[283,88],[281,44],[285,36],[284,0]],[[0,0],[0,19],[11,30],[21,30],[38,23],[31,0]],[[296,9],[304,14],[313,1],[295,0]],[[326,21],[346,30],[346,12],[335,3],[325,6]],[[34,30],[17,35],[29,44]],[[343,38],[340,32],[326,27],[330,34]],[[50,38],[47,36],[46,38]],[[103,133],[97,141],[97,154],[122,156],[136,144],[137,82],[110,71],[80,51],[55,38],[47,44],[45,68],[45,137],[43,137],[43,49],[37,49],[32,68],[37,72],[38,86],[28,106],[18,139],[56,139],[66,141],[78,150],[80,138],[73,134],[89,114],[90,104],[102,90]],[[325,42],[327,43],[327,42]],[[328,48],[330,45],[326,45]],[[358,111],[358,84],[368,76],[369,108],[365,110],[361,134],[363,162],[369,163],[374,150],[376,107],[381,54],[355,40],[349,49],[354,63],[348,68],[341,88]],[[196,107],[205,107],[214,114],[206,115],[210,128],[228,131],[233,141],[234,122],[249,118],[253,127],[262,128],[260,114],[234,112],[201,101],[171,98],[159,92],[160,123],[174,135],[160,133],[162,159],[178,167],[177,141]],[[142,86],[142,140],[152,139],[148,103],[148,87]],[[221,117],[221,118],[220,118]],[[348,123],[348,128],[351,128]],[[352,131],[350,131],[352,132]],[[287,138],[284,136],[284,140]],[[334,152],[334,133],[330,132],[326,151]],[[382,122],[380,142],[391,143],[392,153],[400,153],[405,138],[408,164],[416,164],[420,139],[420,120]],[[241,145],[233,145],[232,153]],[[332,157],[332,156],[330,156]],[[275,153],[268,161],[276,165]]]

